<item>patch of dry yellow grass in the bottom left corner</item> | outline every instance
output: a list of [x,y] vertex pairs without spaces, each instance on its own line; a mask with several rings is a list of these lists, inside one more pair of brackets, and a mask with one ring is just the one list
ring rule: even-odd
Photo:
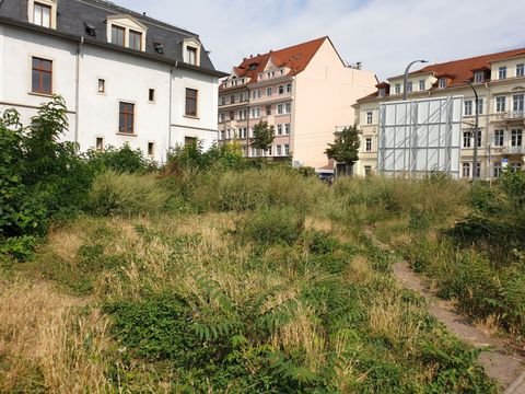
[[23,280],[1,283],[0,298],[0,392],[109,390],[102,357],[108,322],[96,311],[80,316],[86,300]]

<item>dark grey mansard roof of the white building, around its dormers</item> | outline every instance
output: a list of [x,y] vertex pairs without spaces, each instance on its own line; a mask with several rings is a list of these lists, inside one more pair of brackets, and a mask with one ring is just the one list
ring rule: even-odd
[[[199,36],[186,30],[149,18],[113,2],[104,0],[60,0],[57,2],[57,33],[72,36],[86,36],[86,42],[107,43],[106,20],[118,15],[129,15],[137,23],[147,27],[145,54],[175,61],[184,61],[180,43],[186,38],[197,42]],[[0,18],[27,23],[27,1],[0,1]],[[95,36],[88,36],[85,26],[95,28]],[[155,43],[162,44],[163,54],[155,51]],[[208,53],[200,50],[200,68],[215,70]]]

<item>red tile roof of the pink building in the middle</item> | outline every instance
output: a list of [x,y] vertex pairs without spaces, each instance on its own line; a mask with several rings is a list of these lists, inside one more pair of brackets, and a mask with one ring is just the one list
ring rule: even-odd
[[[244,58],[241,65],[234,67],[237,78],[248,77],[249,83],[257,82],[257,74],[265,70],[268,60],[271,59],[273,66],[288,67],[291,69],[288,77],[293,77],[304,71],[312,58],[328,37],[320,37],[306,43],[298,44],[279,50],[270,50],[262,55]],[[252,67],[250,67],[252,66]]]

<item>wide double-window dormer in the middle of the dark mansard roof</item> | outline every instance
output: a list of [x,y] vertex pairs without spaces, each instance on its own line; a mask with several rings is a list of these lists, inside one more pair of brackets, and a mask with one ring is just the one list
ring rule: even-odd
[[147,27],[129,15],[107,18],[107,37],[110,44],[133,50],[144,50]]

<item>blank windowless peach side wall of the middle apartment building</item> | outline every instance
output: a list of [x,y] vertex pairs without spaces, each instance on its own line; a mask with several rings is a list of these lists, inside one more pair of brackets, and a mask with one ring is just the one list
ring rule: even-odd
[[376,83],[373,72],[346,68],[325,40],[308,67],[295,77],[293,161],[316,169],[330,166],[324,152],[334,142],[336,127],[353,123],[352,104],[372,93]]

